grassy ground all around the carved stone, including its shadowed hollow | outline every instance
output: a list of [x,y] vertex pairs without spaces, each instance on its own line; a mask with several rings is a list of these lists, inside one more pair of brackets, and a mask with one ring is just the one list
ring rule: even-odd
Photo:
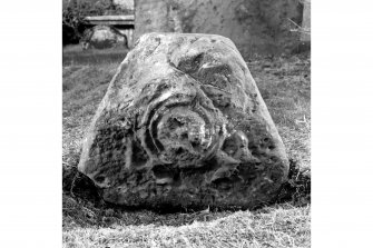
[[[310,181],[298,190],[304,179],[296,172],[281,200],[252,211],[154,212],[100,200],[76,168],[85,131],[126,52],[63,49],[63,247],[311,247]],[[310,175],[310,54],[253,58],[247,66],[292,165]]]

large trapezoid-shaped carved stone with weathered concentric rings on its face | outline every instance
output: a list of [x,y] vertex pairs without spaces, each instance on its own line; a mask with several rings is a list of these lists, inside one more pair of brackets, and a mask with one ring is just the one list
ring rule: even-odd
[[112,78],[79,170],[119,205],[254,208],[275,197],[288,160],[229,39],[148,33]]

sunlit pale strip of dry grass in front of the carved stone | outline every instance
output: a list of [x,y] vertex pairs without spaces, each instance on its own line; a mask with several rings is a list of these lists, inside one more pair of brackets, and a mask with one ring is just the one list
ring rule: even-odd
[[63,232],[65,247],[310,247],[310,207],[236,211],[179,227],[115,225]]

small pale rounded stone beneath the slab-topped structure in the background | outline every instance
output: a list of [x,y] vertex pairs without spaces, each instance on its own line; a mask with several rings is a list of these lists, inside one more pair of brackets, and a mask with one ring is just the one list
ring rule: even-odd
[[126,36],[108,26],[95,26],[94,28],[86,30],[81,44],[84,49],[106,49],[119,46],[128,47]]

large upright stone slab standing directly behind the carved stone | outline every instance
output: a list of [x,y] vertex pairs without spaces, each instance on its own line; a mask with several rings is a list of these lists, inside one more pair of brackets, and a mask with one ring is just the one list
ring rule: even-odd
[[147,32],[227,37],[245,57],[291,52],[300,42],[298,0],[136,0],[135,37]]

